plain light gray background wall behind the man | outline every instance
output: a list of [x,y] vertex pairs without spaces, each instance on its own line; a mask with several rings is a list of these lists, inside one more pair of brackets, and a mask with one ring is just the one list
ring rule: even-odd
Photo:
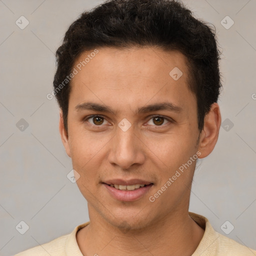
[[[48,242],[89,220],[86,200],[66,177],[71,160],[58,133],[57,104],[46,94],[64,32],[100,2],[0,0],[0,255]],[[219,105],[222,122],[228,118],[215,149],[195,171],[189,210],[224,235],[221,225],[228,220],[234,229],[226,236],[256,249],[256,2],[183,2],[216,27],[224,88]],[[21,15],[29,21],[24,29],[15,24]],[[229,29],[220,23],[226,15],[234,21]],[[20,126],[21,118],[28,127]],[[21,220],[29,226],[23,235],[15,228]]]

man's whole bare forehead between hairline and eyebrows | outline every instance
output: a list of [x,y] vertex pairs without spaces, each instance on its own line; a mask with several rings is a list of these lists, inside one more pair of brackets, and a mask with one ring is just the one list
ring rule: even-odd
[[171,101],[182,107],[185,100],[195,99],[188,89],[186,58],[178,51],[105,47],[92,52],[95,50],[80,54],[73,65],[77,74],[71,80],[71,101],[111,100],[134,109],[149,100]]

